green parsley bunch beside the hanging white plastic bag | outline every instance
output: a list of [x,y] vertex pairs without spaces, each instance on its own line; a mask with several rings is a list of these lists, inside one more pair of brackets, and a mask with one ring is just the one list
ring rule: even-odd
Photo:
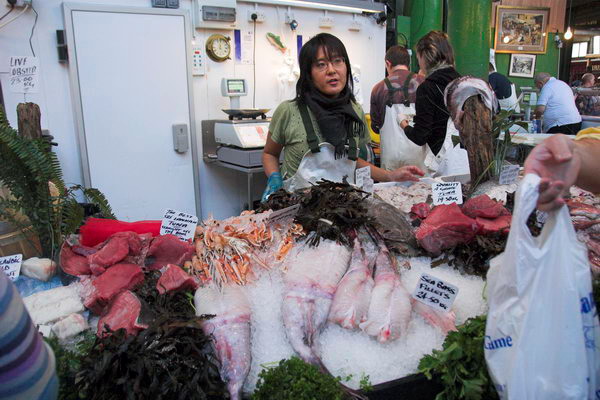
[[428,379],[440,379],[444,390],[436,400],[498,399],[483,355],[484,315],[470,318],[458,331],[448,333],[442,350],[434,350],[419,362]]

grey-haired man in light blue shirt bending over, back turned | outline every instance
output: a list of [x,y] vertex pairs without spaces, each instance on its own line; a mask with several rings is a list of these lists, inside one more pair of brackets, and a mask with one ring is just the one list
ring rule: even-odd
[[534,81],[535,86],[541,90],[535,115],[536,118],[544,116],[544,133],[576,135],[581,129],[581,115],[569,85],[547,72],[537,73]]

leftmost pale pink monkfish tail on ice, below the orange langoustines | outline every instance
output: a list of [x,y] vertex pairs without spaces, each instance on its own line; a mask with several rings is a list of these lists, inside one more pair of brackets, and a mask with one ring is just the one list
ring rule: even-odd
[[202,330],[213,335],[221,361],[221,379],[232,400],[242,398],[242,386],[252,362],[250,348],[250,303],[242,286],[200,287],[194,295],[196,315],[211,314]]

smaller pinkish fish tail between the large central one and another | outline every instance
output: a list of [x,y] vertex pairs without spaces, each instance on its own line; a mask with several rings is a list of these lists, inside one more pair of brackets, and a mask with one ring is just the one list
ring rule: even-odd
[[355,239],[350,268],[335,291],[329,321],[346,329],[357,329],[366,320],[375,285],[372,273],[369,260],[362,254],[360,243]]

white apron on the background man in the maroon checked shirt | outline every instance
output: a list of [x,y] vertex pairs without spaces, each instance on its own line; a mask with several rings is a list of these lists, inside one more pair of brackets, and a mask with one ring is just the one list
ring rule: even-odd
[[400,128],[398,115],[415,115],[414,104],[409,107],[404,104],[392,104],[385,108],[385,119],[381,127],[381,167],[394,170],[406,165],[416,165],[425,170],[428,145],[419,146],[413,143]]

